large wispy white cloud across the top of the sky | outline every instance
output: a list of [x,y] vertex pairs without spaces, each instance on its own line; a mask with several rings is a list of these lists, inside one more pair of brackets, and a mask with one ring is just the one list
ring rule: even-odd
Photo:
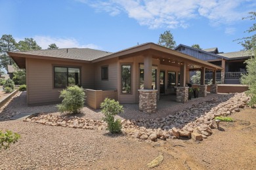
[[[253,0],[75,0],[111,16],[125,12],[140,25],[188,27],[188,20],[204,17],[211,25],[232,24],[253,11]],[[251,4],[251,5],[248,5]]]

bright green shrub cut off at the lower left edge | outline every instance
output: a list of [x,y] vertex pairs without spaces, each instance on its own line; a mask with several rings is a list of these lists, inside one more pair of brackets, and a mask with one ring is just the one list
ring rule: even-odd
[[18,133],[13,133],[12,131],[6,131],[3,133],[0,131],[0,149],[7,149],[10,147],[11,143],[16,143],[20,139],[20,135]]

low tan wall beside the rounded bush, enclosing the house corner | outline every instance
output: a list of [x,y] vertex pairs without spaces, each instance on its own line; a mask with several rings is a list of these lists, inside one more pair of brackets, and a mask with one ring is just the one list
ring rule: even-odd
[[104,101],[106,97],[109,99],[117,100],[117,91],[116,90],[91,90],[85,89],[85,103],[87,106],[93,109],[100,109],[100,103]]

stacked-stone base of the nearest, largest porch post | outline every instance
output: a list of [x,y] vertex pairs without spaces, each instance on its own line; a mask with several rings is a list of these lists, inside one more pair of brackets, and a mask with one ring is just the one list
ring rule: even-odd
[[156,99],[158,90],[138,90],[139,110],[142,112],[156,112]]

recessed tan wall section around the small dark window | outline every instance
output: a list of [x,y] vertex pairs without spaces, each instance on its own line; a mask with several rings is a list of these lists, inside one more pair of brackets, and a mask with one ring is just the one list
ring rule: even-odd
[[[96,90],[117,90],[117,61],[108,59],[95,63],[95,89]],[[101,67],[108,66],[108,80],[101,79]]]

